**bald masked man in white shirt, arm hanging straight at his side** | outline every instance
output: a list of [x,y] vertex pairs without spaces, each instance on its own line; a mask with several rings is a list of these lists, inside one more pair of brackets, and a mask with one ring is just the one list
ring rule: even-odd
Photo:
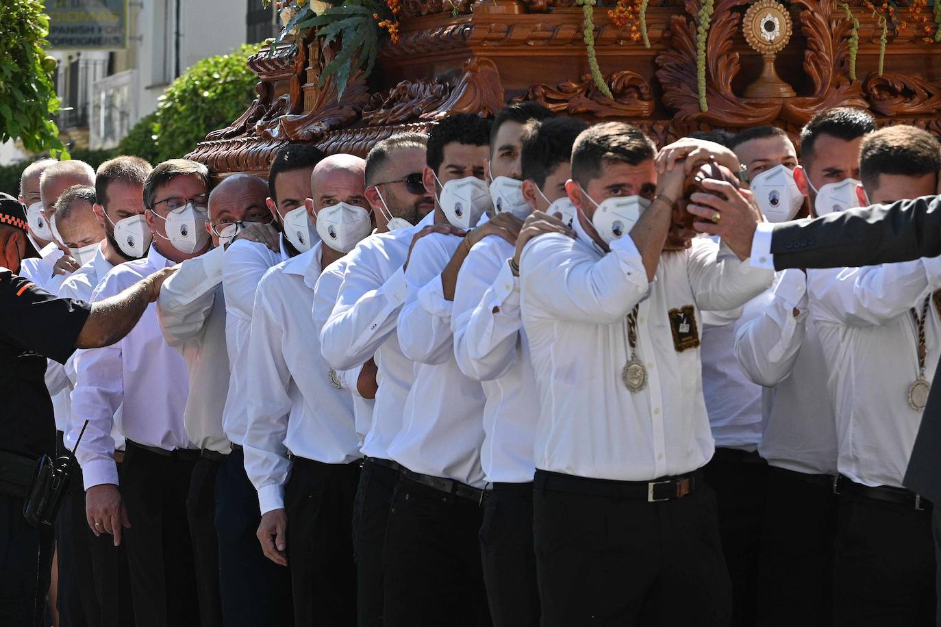
[[314,167],[306,206],[321,241],[264,274],[252,314],[245,466],[258,491],[260,535],[286,529],[274,546],[261,540],[265,555],[291,567],[298,627],[356,617],[359,438],[352,398],[331,377],[311,310],[321,270],[373,229],[364,165],[340,154]]

